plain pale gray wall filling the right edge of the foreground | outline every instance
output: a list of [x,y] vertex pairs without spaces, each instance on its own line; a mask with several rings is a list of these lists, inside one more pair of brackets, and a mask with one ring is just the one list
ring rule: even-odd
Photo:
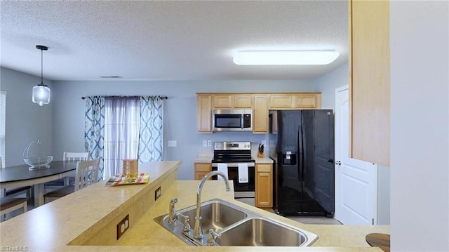
[[390,7],[391,251],[449,251],[449,2]]

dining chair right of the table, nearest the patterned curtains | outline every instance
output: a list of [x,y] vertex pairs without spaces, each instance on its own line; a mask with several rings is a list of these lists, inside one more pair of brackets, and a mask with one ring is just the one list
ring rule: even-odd
[[91,161],[78,161],[78,163],[76,163],[75,183],[43,194],[44,203],[46,204],[97,183],[99,169],[100,158]]

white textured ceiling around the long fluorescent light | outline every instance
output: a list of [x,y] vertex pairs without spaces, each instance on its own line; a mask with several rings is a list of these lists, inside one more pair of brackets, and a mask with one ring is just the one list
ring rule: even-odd
[[[1,67],[51,80],[312,79],[347,62],[347,1],[1,1]],[[238,50],[324,49],[326,66],[239,66]]]

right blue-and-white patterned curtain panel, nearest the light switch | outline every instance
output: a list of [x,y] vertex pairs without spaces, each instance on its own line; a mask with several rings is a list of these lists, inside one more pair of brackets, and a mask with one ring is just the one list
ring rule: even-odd
[[159,96],[140,96],[140,163],[163,159],[163,100]]

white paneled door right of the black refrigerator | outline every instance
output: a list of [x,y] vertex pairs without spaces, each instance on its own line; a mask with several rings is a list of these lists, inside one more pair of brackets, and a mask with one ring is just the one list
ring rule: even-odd
[[349,90],[335,90],[335,218],[377,224],[377,165],[349,158]]

